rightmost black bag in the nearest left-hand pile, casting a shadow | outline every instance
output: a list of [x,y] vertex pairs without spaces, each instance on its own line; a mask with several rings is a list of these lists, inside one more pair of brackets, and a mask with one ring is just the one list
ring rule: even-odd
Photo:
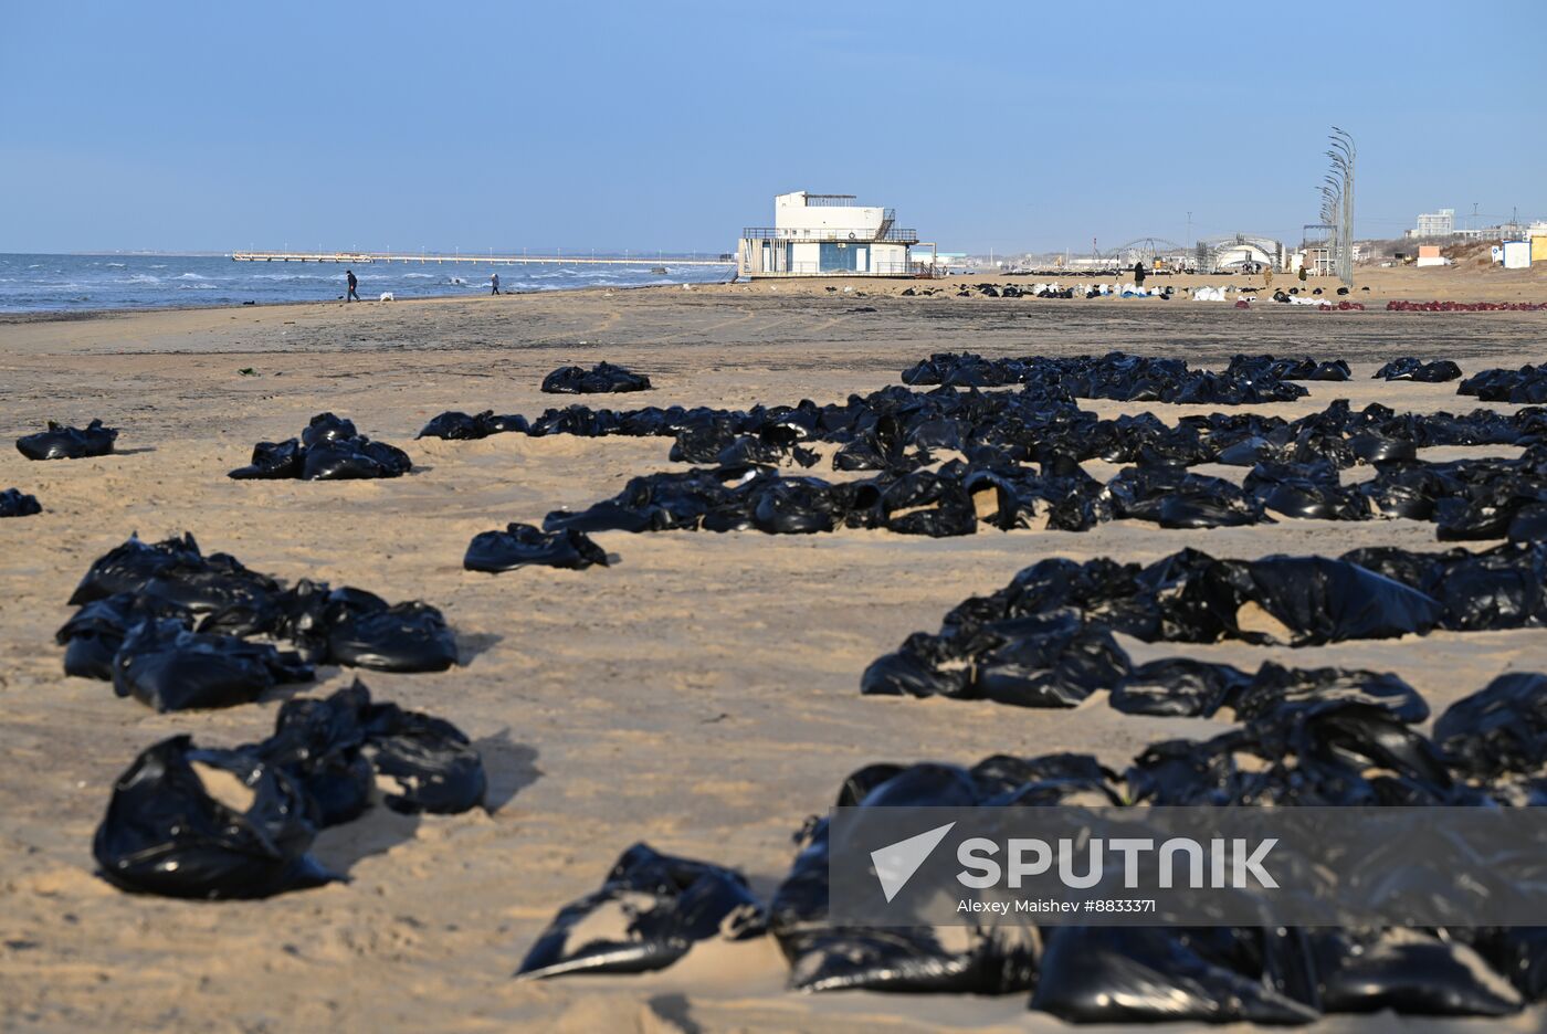
[[362,725],[364,753],[377,785],[396,785],[382,798],[393,811],[458,815],[484,802],[489,785],[483,757],[450,722],[377,703],[364,713]]

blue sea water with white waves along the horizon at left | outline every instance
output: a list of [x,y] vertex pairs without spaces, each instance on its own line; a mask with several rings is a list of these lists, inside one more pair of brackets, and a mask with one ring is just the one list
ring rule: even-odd
[[[667,272],[653,274],[653,266]],[[91,309],[170,309],[255,301],[337,301],[343,270],[359,278],[360,298],[390,291],[396,298],[489,294],[489,274],[501,292],[565,287],[644,287],[729,280],[724,266],[673,266],[670,258],[640,266],[487,263],[238,263],[224,255],[0,255],[0,312],[85,312]]]

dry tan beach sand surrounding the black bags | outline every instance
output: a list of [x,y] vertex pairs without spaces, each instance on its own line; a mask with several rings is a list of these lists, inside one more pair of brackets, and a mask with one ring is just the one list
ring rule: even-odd
[[[1480,298],[1513,281],[1391,274],[1378,297]],[[1372,277],[1372,281],[1377,278]],[[1528,281],[1535,300],[1547,297]],[[1482,286],[1477,286],[1482,284]],[[777,286],[778,291],[769,287]],[[999,1000],[797,995],[769,943],[701,951],[645,978],[517,983],[534,935],[593,890],[634,841],[739,867],[767,892],[791,833],[842,777],[876,760],[973,762],[990,753],[1092,751],[1122,765],[1145,743],[1210,722],[1122,716],[1098,694],[1072,711],[879,700],[857,692],[876,655],[933,631],[961,598],[1044,556],[1148,561],[1433,547],[1405,521],[1210,533],[1109,524],[1084,535],[931,541],[885,532],[600,535],[606,570],[461,570],[467,541],[506,521],[583,507],[631,474],[668,470],[667,439],[500,436],[413,442],[447,408],[534,414],[545,372],[600,359],[648,372],[636,403],[842,400],[897,382],[930,351],[1074,354],[1125,348],[1351,360],[1284,414],[1337,397],[1398,410],[1470,408],[1454,385],[1386,385],[1402,354],[1463,369],[1539,360],[1547,314],[1338,314],[1259,304],[894,298],[902,284],[756,284],[429,303],[243,308],[0,321],[0,487],[34,491],[36,518],[0,521],[0,1029],[968,1029],[1054,1028]],[[855,304],[863,292],[865,301]],[[851,312],[874,308],[874,312]],[[251,366],[257,376],[240,376]],[[1084,403],[1101,413],[1137,406]],[[1187,411],[1151,406],[1166,419]],[[258,439],[317,411],[405,447],[415,473],[381,482],[235,482]],[[102,417],[121,454],[31,464],[9,442],[45,419]],[[1473,453],[1480,450],[1471,450]],[[1460,454],[1448,450],[1446,454]],[[1239,471],[1235,471],[1239,474]],[[353,883],[260,903],[119,893],[91,875],[91,832],[114,776],[147,743],[266,734],[282,697],[156,716],[105,683],[65,679],[53,632],[90,561],[130,532],[193,532],[285,578],[424,598],[458,631],[464,666],[364,672],[384,699],[456,722],[484,753],[490,815],[408,819],[382,810],[325,833],[319,856]],[[1436,711],[1505,669],[1547,666],[1538,631],[1434,634],[1316,651],[1128,643],[1255,668],[1357,665],[1408,679]],[[354,672],[323,669],[306,692]],[[1536,1029],[1539,1012],[1476,1029]],[[1327,1029],[1369,1029],[1343,1019]],[[1395,1029],[1397,1023],[1386,1023]],[[1423,1026],[1408,1023],[1405,1028]]]

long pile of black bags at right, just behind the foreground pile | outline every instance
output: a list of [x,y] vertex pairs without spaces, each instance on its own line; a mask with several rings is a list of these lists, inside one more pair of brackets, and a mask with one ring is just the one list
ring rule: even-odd
[[1542,623],[1547,544],[1505,544],[1484,553],[1378,547],[1338,560],[1253,561],[1187,549],[1148,566],[1044,560],[1004,589],[962,601],[939,634],[910,635],[865,669],[860,686],[868,694],[1021,706],[1074,706],[1094,689],[1115,686],[1112,703],[1126,711],[1211,714],[1219,706],[1261,709],[1262,699],[1301,692],[1295,683],[1304,683],[1315,696],[1352,692],[1416,714],[1411,689],[1392,675],[1265,666],[1248,679],[1228,666],[1183,660],[1132,668],[1112,632],[1146,643],[1298,648],[1436,628],[1477,632]]

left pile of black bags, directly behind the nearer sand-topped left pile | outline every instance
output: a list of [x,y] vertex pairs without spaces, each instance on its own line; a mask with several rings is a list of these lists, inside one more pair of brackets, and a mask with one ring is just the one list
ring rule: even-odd
[[70,603],[80,609],[56,637],[65,672],[111,680],[119,696],[159,711],[255,700],[311,680],[312,665],[413,672],[456,663],[456,638],[429,604],[308,580],[285,586],[227,553],[206,556],[192,535],[130,538],[91,564]]

